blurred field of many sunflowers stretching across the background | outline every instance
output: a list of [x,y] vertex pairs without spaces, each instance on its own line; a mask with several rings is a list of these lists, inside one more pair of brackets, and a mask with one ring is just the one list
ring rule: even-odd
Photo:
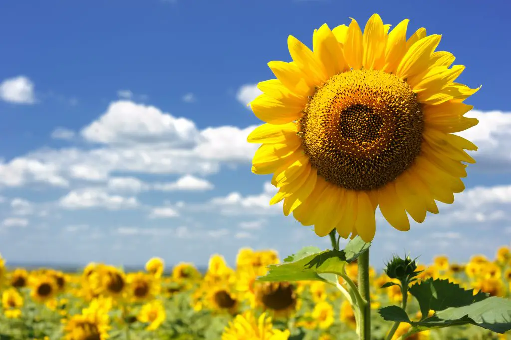
[[[261,282],[267,266],[280,262],[273,250],[241,248],[236,267],[221,255],[210,257],[205,273],[192,263],[167,270],[154,257],[146,270],[126,273],[121,267],[89,263],[78,273],[52,268],[28,271],[8,268],[2,275],[1,339],[356,339],[350,303],[335,287],[321,281]],[[356,283],[357,263],[346,271]],[[451,263],[437,256],[431,265],[419,264],[419,280],[447,279],[474,293],[508,297],[511,290],[511,252],[500,247],[494,259],[473,256],[468,263]],[[371,309],[399,303],[398,285],[370,268]],[[342,279],[339,285],[342,286]],[[417,283],[414,283],[417,284]],[[409,298],[407,312],[421,319],[418,304]],[[434,314],[434,310],[429,311]],[[384,339],[389,323],[373,313],[371,334]],[[393,340],[409,325],[401,323]],[[475,326],[415,333],[406,339],[507,339]]]

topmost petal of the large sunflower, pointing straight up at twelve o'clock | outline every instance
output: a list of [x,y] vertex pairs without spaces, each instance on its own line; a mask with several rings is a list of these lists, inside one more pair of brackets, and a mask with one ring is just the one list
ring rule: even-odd
[[386,34],[383,21],[373,14],[365,25],[362,65],[366,70],[380,70],[385,62]]

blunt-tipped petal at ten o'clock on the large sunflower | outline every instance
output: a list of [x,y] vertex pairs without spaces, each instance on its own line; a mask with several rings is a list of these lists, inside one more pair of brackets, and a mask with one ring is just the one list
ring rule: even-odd
[[270,61],[268,66],[275,77],[297,96],[307,97],[314,93],[314,86],[307,83],[306,77],[294,62]]

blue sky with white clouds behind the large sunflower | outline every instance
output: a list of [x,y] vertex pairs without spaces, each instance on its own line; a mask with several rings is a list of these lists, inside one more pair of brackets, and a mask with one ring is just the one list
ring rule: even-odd
[[[160,256],[233,263],[241,246],[328,246],[269,207],[250,172],[260,122],[245,104],[290,61],[287,37],[322,24],[363,27],[373,13],[439,50],[481,90],[467,102],[479,147],[467,190],[410,232],[378,217],[371,262],[411,252],[465,261],[511,238],[507,12],[492,2],[109,0],[0,4],[0,252],[11,262],[140,265]],[[378,212],[379,213],[379,212]]]

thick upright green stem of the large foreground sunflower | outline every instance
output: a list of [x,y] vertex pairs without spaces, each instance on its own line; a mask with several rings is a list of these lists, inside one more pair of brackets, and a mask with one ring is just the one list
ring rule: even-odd
[[360,340],[371,338],[371,297],[369,294],[369,250],[358,257],[358,291],[362,298],[359,305],[360,319],[357,325]]

